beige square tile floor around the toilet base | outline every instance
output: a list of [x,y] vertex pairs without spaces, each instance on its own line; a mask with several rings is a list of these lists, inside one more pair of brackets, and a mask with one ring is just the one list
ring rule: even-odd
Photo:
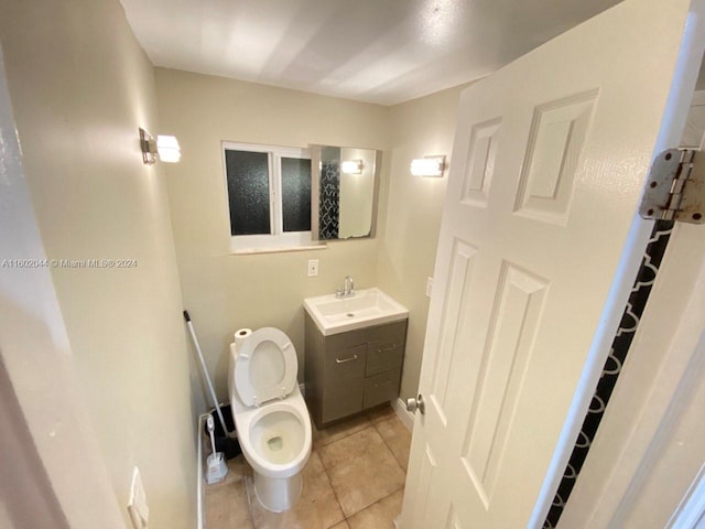
[[[293,509],[258,503],[242,455],[225,481],[206,487],[206,529],[392,529],[401,512],[411,434],[391,407],[318,431]],[[208,446],[208,444],[206,444]]]

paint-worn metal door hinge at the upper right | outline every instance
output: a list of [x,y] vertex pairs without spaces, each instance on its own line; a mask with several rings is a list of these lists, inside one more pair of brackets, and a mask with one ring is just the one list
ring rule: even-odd
[[705,224],[705,152],[669,149],[649,171],[639,214],[655,220]]

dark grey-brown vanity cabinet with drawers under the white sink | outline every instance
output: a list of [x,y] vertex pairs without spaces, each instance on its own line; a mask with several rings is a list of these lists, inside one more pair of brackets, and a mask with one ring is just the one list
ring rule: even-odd
[[406,320],[324,336],[306,313],[305,398],[316,427],[399,396]]

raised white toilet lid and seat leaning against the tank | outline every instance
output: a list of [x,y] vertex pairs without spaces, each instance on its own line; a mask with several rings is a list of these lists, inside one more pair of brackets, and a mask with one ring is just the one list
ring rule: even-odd
[[246,406],[286,397],[296,384],[296,349],[279,328],[254,331],[237,349],[235,386]]

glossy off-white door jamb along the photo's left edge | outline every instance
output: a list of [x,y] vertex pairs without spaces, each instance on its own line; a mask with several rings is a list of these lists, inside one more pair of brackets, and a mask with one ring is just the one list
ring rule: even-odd
[[51,271],[13,264],[28,256],[41,261],[46,253],[21,164],[1,47],[0,527],[121,528],[122,509],[87,428]]

